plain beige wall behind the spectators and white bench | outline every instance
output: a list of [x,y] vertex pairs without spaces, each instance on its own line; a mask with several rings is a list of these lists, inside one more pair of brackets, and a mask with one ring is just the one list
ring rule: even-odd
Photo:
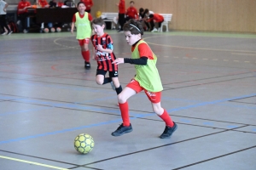
[[[256,0],[134,0],[135,7],[172,14],[169,29],[256,33]],[[96,11],[118,12],[119,0],[94,0]],[[125,1],[125,8],[130,0]]]

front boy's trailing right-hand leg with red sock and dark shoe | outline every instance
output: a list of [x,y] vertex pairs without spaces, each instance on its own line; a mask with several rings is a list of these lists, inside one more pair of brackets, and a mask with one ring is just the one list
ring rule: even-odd
[[160,135],[161,139],[170,138],[172,133],[177,129],[177,124],[172,121],[171,116],[167,113],[165,109],[161,107],[160,98],[161,92],[150,93],[145,90],[145,94],[147,94],[148,99],[151,101],[153,111],[160,116],[160,118],[166,122],[166,128],[164,132]]

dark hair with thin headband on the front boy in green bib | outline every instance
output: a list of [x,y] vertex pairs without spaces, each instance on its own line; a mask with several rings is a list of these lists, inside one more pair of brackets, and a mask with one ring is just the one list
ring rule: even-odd
[[131,34],[141,34],[143,35],[143,24],[138,20],[128,20],[123,27],[124,31],[131,31]]

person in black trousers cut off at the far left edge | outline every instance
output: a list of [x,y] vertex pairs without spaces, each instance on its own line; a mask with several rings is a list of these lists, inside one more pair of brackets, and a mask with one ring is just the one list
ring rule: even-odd
[[[9,29],[9,26],[6,24],[6,8],[8,7],[8,3],[5,3],[3,0],[0,0],[0,25],[2,28],[2,35],[9,35],[12,31]],[[8,31],[6,32],[5,29]]]

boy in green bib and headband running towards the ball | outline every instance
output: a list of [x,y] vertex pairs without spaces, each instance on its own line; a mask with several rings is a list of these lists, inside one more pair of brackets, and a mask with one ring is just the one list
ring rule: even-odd
[[122,63],[135,65],[136,76],[118,95],[123,123],[112,133],[112,135],[120,136],[132,131],[127,99],[134,94],[144,91],[151,101],[153,111],[166,122],[166,128],[160,135],[160,138],[170,138],[172,133],[177,129],[177,124],[172,122],[171,116],[169,116],[167,111],[160,105],[161,91],[163,90],[163,87],[155,65],[157,58],[151,48],[149,48],[147,42],[144,42],[142,39],[142,23],[137,20],[129,20],[124,25],[124,32],[127,43],[131,45],[131,59],[118,58],[115,59],[113,63],[116,65]]

